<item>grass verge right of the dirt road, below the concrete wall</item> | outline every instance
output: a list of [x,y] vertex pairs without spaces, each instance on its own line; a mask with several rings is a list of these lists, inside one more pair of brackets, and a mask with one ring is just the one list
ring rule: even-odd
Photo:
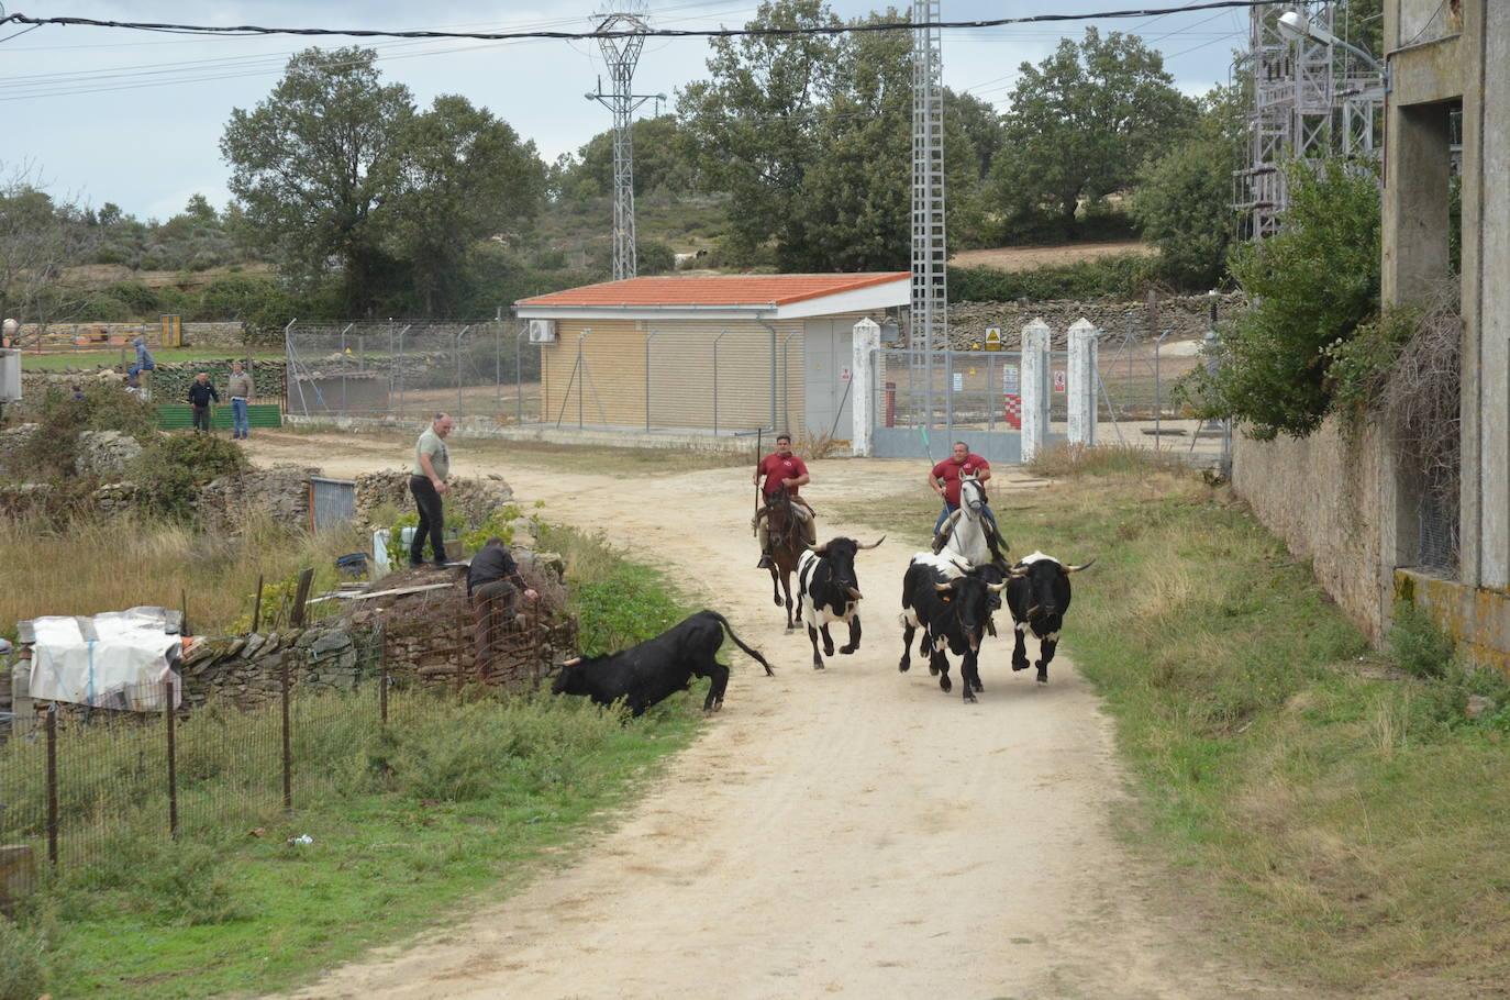
[[[1126,455],[1072,465],[997,517],[1016,554],[1098,557],[1065,648],[1116,718],[1140,792],[1128,838],[1166,870],[1169,906],[1314,994],[1496,995],[1507,678],[1418,678],[1371,653],[1311,568],[1197,476]],[[843,512],[917,544],[933,515],[895,498]],[[1419,659],[1433,642],[1391,647]]]

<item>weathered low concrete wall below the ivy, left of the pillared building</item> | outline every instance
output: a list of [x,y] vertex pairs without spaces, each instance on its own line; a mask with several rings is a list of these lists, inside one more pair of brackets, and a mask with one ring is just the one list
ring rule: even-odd
[[1303,441],[1232,440],[1232,486],[1253,515],[1308,559],[1317,582],[1377,644],[1389,582],[1382,580],[1377,438],[1348,441],[1329,420]]

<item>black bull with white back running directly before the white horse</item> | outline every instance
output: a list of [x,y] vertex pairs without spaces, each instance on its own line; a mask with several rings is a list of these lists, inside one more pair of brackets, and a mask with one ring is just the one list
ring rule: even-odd
[[[939,678],[945,692],[948,680],[948,656],[960,657],[959,680],[965,701],[975,701],[975,692],[983,690],[977,659],[980,640],[991,622],[994,603],[1000,607],[1003,580],[1001,566],[986,565],[971,568],[944,556],[920,551],[908,563],[901,579],[901,663],[897,669],[906,672],[912,666],[912,636],[923,630],[918,653],[929,654],[929,674]],[[997,597],[997,601],[992,598]]]

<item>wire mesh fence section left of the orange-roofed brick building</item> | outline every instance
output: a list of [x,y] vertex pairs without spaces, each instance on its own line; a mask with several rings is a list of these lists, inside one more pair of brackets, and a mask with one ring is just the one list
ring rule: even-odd
[[525,325],[400,322],[284,331],[287,412],[535,423],[541,355]]

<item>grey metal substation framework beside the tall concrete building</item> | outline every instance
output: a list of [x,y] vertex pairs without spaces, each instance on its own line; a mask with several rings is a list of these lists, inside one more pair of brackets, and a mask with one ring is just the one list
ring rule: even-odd
[[[1249,50],[1235,63],[1249,88],[1247,162],[1235,175],[1234,205],[1252,239],[1279,231],[1290,207],[1287,160],[1377,154],[1383,73],[1350,53],[1347,39],[1323,41],[1345,6],[1347,0],[1311,0],[1249,14]],[[1284,30],[1280,17],[1288,11],[1321,29],[1320,38]]]

